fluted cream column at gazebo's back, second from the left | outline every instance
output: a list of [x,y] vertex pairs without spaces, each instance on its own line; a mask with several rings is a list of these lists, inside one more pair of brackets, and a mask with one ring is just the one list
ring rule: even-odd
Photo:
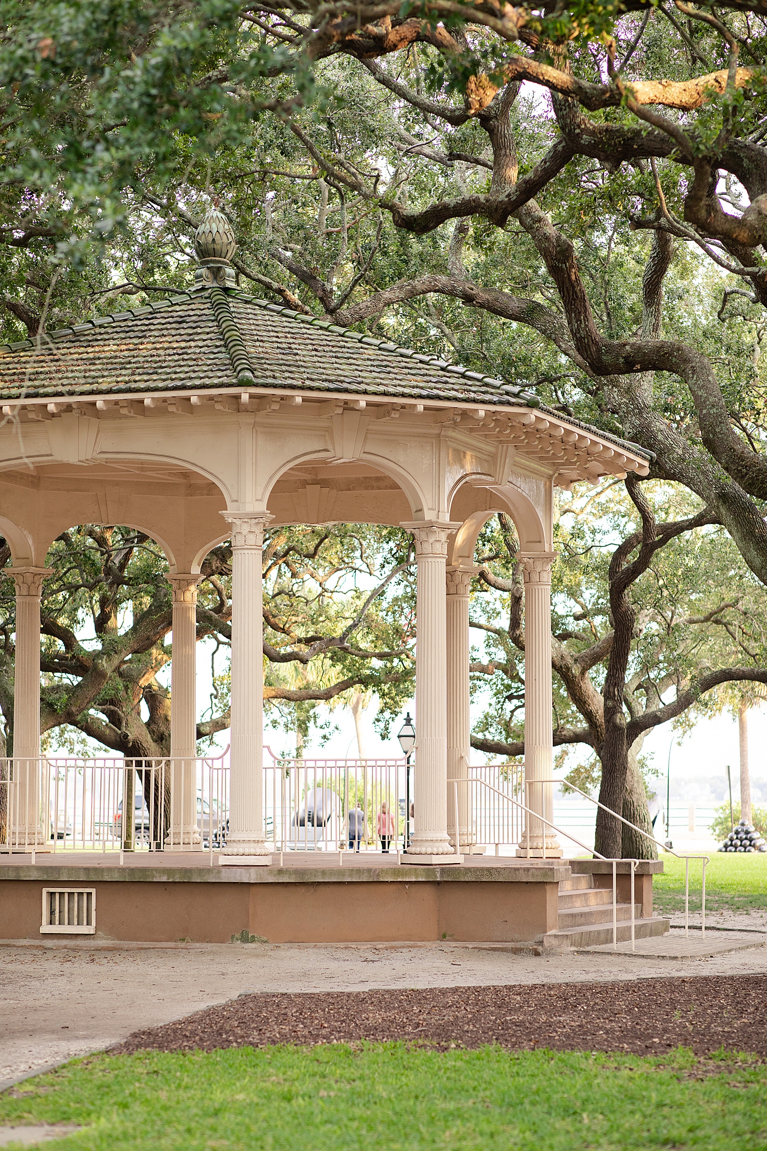
[[170,664],[170,832],[168,847],[200,843],[197,826],[197,585],[200,576],[166,576],[174,595]]

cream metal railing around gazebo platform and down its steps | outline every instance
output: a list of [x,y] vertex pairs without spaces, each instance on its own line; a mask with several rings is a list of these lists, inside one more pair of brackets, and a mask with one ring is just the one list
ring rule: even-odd
[[[306,760],[281,757],[266,748],[263,815],[267,843],[275,853],[406,851],[411,821],[405,811],[404,759]],[[549,828],[586,853],[605,859],[570,832],[529,806],[530,788],[561,784],[561,779],[524,780],[516,764],[492,763],[469,769],[467,780],[448,786],[448,824],[475,845],[524,845],[530,853],[531,829]],[[570,785],[568,785],[570,786]],[[701,935],[705,935],[706,864],[708,855],[682,854],[623,816],[611,811],[577,787],[574,792],[614,815],[622,824],[685,861],[684,930],[689,933],[690,860],[701,860]],[[521,796],[524,795],[524,802]],[[543,799],[538,805],[543,809]],[[461,806],[463,805],[463,811]],[[468,826],[468,832],[467,832]],[[229,830],[229,767],[225,753],[194,760],[40,757],[0,759],[0,852],[221,849]],[[534,831],[534,834],[536,832]],[[455,852],[460,837],[454,836]],[[550,849],[549,849],[550,851]],[[540,854],[547,856],[546,834]],[[343,857],[343,856],[342,856]],[[608,860],[606,862],[609,862]],[[615,937],[616,861],[613,860]],[[634,886],[638,861],[621,861],[631,871],[631,938]]]

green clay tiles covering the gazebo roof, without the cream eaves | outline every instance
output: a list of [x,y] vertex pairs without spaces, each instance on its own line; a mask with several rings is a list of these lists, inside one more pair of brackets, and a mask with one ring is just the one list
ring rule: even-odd
[[531,392],[503,380],[223,288],[195,289],[0,345],[0,399],[6,403],[248,384],[393,402],[540,407]]

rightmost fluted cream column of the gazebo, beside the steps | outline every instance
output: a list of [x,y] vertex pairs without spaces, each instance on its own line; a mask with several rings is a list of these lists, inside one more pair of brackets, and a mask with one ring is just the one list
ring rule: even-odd
[[[535,815],[553,818],[551,699],[551,565],[555,552],[517,555],[524,571],[524,784],[526,803]],[[545,824],[535,815],[524,817],[517,855],[542,856]],[[529,822],[529,826],[528,826]],[[529,831],[529,851],[528,851]],[[546,857],[561,856],[557,836],[545,831]]]

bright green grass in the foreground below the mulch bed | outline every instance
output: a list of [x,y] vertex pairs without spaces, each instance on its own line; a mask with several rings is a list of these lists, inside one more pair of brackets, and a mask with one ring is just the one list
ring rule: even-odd
[[767,1145],[767,1067],[683,1049],[98,1055],[0,1096],[0,1125],[33,1122],[82,1125],[51,1151],[719,1151]]

